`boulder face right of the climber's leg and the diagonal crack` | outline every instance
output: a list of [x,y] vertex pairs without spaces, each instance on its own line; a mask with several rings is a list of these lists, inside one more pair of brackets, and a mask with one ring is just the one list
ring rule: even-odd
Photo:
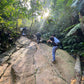
[[[57,66],[62,77],[70,83],[71,78],[74,77],[75,60],[64,50],[57,50]],[[65,67],[65,68],[64,68]]]

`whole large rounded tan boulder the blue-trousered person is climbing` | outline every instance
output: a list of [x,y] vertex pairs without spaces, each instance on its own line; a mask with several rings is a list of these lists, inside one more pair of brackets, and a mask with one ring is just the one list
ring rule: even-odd
[[[14,83],[70,83],[71,78],[74,76],[75,60],[67,52],[57,50],[57,64],[52,65],[51,50],[51,47],[44,44],[40,44],[36,47],[36,44],[31,43],[30,46],[26,47],[24,52],[22,52],[22,55],[19,56],[19,60],[17,60],[12,66],[12,73],[15,77]],[[30,80],[32,83],[30,83]]]

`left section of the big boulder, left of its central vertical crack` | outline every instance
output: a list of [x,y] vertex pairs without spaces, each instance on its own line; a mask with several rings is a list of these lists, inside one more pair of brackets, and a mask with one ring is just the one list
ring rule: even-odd
[[[35,66],[33,65],[33,55],[36,52],[36,46],[34,43],[31,43],[28,47],[24,48],[24,52],[21,53],[19,58],[16,59],[15,63],[12,66],[13,76],[17,79],[14,82],[18,83],[27,83],[27,81],[22,79],[27,79],[36,73]],[[31,80],[31,79],[29,79]],[[30,81],[28,81],[30,82]]]

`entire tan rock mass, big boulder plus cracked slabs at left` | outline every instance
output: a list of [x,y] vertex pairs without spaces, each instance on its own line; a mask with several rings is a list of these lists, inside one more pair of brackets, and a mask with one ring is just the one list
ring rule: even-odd
[[21,37],[15,51],[0,66],[0,84],[70,84],[75,60],[58,49],[56,64],[51,61],[52,47]]

